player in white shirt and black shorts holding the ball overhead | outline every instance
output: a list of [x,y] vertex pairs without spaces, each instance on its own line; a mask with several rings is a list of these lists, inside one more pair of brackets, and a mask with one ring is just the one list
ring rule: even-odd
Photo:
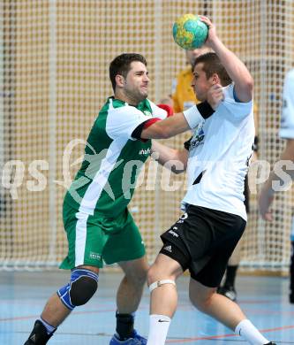
[[[148,272],[151,292],[147,345],[165,343],[170,320],[177,308],[176,280],[191,273],[190,299],[194,306],[254,345],[272,344],[245,317],[237,303],[216,294],[222,275],[244,232],[246,213],[244,180],[252,154],[253,78],[245,65],[228,50],[206,17],[207,45],[215,53],[196,59],[192,88],[200,101],[211,85],[221,84],[224,98],[215,113],[195,120],[197,107],[184,111],[193,130],[183,150],[157,143],[160,162],[181,161],[188,173],[185,213],[162,234],[163,247]],[[144,133],[144,132],[143,132]]]

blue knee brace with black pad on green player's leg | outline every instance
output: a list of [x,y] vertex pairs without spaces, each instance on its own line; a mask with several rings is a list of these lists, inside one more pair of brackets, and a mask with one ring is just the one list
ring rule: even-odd
[[98,274],[86,270],[72,271],[71,281],[57,291],[64,305],[73,310],[74,307],[87,303],[98,288]]

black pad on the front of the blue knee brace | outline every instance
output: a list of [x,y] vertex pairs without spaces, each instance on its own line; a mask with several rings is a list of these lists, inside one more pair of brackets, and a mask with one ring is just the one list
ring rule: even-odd
[[92,277],[79,277],[78,280],[72,282],[72,288],[70,289],[72,304],[79,306],[87,303],[97,288],[98,282]]

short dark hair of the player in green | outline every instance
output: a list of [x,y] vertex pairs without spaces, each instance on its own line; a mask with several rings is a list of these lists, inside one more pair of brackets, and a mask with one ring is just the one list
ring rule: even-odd
[[116,76],[117,74],[123,75],[126,78],[127,73],[131,70],[133,61],[139,61],[147,66],[146,58],[136,53],[124,53],[118,55],[117,58],[111,61],[109,65],[109,78],[111,80],[113,91],[116,90]]

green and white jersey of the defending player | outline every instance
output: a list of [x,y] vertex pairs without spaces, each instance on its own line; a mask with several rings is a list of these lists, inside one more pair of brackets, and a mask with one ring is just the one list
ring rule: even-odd
[[151,140],[136,140],[132,132],[148,119],[166,116],[147,99],[134,107],[109,97],[94,121],[83,163],[64,203],[90,215],[116,217],[124,211],[151,150]]

